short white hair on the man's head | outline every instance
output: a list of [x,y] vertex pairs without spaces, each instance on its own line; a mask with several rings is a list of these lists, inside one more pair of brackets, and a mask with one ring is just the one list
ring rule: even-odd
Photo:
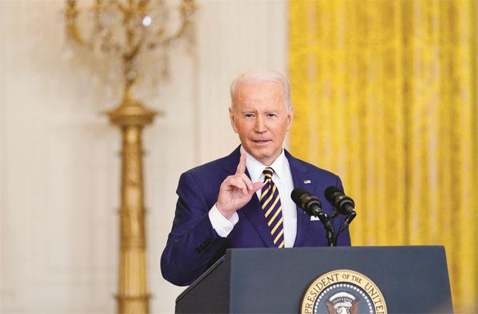
[[290,84],[287,78],[276,71],[249,71],[243,74],[240,74],[237,78],[234,79],[233,83],[230,84],[230,101],[231,106],[235,106],[234,96],[236,92],[236,86],[239,82],[245,83],[262,83],[262,82],[276,82],[280,83],[283,86],[284,96],[285,96],[285,107],[289,108],[292,106],[290,101]]

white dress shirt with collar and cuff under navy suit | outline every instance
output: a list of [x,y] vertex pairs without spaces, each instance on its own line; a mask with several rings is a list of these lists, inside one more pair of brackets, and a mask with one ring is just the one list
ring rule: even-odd
[[[241,151],[244,151],[243,147],[240,147]],[[245,152],[245,151],[244,151]],[[263,182],[264,181],[264,166],[262,163],[257,161],[253,156],[250,156],[247,152],[245,166],[248,168],[249,176],[253,182]],[[278,187],[280,195],[280,203],[283,206],[283,225],[284,225],[284,246],[285,248],[292,248],[295,242],[295,236],[297,234],[297,211],[295,208],[295,203],[290,198],[290,193],[294,189],[294,183],[292,180],[292,174],[290,173],[290,166],[287,158],[285,157],[284,150],[278,158],[269,166],[274,169],[273,181]],[[257,191],[256,194],[260,199],[261,190]],[[258,211],[261,209],[258,208]],[[229,235],[230,231],[233,231],[233,228],[236,223],[239,221],[238,213],[233,213],[229,219],[225,218],[219,211],[218,208],[213,206],[209,211],[209,219],[213,228],[219,236],[225,238]],[[265,218],[264,218],[265,223]]]

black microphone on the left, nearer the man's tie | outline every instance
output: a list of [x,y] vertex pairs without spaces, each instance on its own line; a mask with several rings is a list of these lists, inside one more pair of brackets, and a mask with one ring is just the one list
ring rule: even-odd
[[302,211],[305,211],[307,215],[319,218],[325,231],[327,231],[326,236],[329,246],[335,246],[334,225],[332,225],[330,217],[322,211],[322,203],[320,203],[320,200],[317,197],[312,196],[309,192],[302,190],[302,188],[295,188],[292,193],[290,193],[290,198],[292,198],[294,203],[302,208]]

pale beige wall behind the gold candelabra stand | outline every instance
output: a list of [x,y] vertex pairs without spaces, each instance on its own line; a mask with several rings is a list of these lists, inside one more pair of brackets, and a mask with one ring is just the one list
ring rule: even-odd
[[[144,101],[166,111],[144,136],[148,279],[155,313],[183,290],[161,277],[181,172],[238,145],[228,86],[240,71],[285,73],[285,1],[199,1],[195,54]],[[111,313],[118,263],[116,104],[64,57],[63,1],[0,1],[1,313]]]

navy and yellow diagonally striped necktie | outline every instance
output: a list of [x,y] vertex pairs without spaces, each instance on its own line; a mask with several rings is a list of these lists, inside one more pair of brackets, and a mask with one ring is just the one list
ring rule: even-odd
[[260,193],[260,206],[276,248],[284,247],[284,224],[279,190],[273,182],[274,169],[267,167],[263,171],[265,185]]

